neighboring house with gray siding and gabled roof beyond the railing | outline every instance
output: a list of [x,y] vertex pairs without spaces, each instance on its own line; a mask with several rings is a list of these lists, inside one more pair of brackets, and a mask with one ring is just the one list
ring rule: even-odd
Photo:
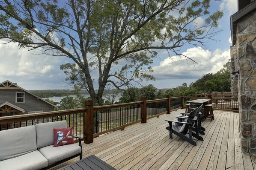
[[[33,95],[11,81],[7,80],[0,83],[0,116],[51,112],[54,111],[54,107],[56,107],[54,104]],[[21,122],[21,124],[20,122],[17,124],[0,124],[0,130],[21,127],[31,123],[32,120]]]

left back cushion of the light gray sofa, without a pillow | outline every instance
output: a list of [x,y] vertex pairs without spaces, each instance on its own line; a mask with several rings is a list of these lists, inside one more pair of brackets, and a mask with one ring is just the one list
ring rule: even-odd
[[37,150],[35,126],[0,131],[0,161],[35,150]]

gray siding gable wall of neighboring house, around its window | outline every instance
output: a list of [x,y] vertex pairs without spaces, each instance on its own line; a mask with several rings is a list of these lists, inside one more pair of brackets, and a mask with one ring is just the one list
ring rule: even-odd
[[43,111],[43,112],[51,112],[54,111],[54,107],[52,105],[46,103],[42,100],[37,100],[37,98],[27,92],[25,92],[24,103],[15,103],[16,100],[16,92],[24,92],[21,90],[0,90],[0,103],[4,103],[6,101],[15,104],[18,107],[25,109],[25,112],[22,114],[27,114],[28,112],[33,111]]

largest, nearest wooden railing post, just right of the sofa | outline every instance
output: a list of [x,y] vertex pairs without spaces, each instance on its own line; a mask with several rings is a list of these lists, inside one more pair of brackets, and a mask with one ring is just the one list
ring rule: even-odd
[[90,144],[93,142],[93,101],[86,99],[84,105],[87,107],[87,111],[84,113],[83,122],[85,132],[84,143]]

